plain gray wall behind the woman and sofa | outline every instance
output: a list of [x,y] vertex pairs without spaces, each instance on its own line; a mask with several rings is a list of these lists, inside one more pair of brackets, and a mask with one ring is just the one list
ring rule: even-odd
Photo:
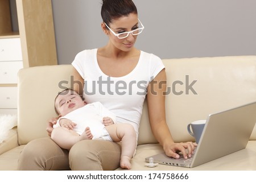
[[[162,59],[256,55],[255,0],[134,0],[145,29],[135,46]],[[52,0],[59,64],[105,46],[101,0]]]

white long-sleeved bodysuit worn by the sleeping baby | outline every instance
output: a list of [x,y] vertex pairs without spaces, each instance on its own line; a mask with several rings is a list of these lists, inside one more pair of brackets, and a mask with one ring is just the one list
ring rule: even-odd
[[77,124],[73,131],[76,131],[81,135],[86,127],[90,127],[90,131],[93,134],[93,139],[98,139],[108,134],[104,129],[105,126],[103,124],[103,117],[110,117],[114,123],[117,123],[117,119],[111,111],[106,109],[100,102],[93,102],[92,104],[86,104],[79,109],[71,111],[63,117],[60,117],[57,120],[56,125],[53,127],[60,127],[60,119],[70,119],[72,122]]

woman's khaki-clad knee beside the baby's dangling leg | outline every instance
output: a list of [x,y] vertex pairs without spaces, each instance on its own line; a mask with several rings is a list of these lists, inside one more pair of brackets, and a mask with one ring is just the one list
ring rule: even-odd
[[105,140],[82,140],[69,151],[72,170],[114,170],[119,167],[121,147]]

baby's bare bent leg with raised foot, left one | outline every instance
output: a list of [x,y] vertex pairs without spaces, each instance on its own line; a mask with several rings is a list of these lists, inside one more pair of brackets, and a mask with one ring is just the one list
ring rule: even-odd
[[61,148],[70,150],[75,143],[84,139],[92,139],[93,136],[90,133],[89,127],[86,127],[81,136],[76,131],[69,130],[66,127],[57,127],[52,130],[51,138]]

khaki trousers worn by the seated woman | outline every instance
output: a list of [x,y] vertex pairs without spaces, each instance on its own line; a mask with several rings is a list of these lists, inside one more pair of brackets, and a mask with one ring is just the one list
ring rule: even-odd
[[105,140],[82,140],[70,151],[60,148],[51,138],[29,142],[21,152],[18,170],[101,171],[119,167],[121,145]]

